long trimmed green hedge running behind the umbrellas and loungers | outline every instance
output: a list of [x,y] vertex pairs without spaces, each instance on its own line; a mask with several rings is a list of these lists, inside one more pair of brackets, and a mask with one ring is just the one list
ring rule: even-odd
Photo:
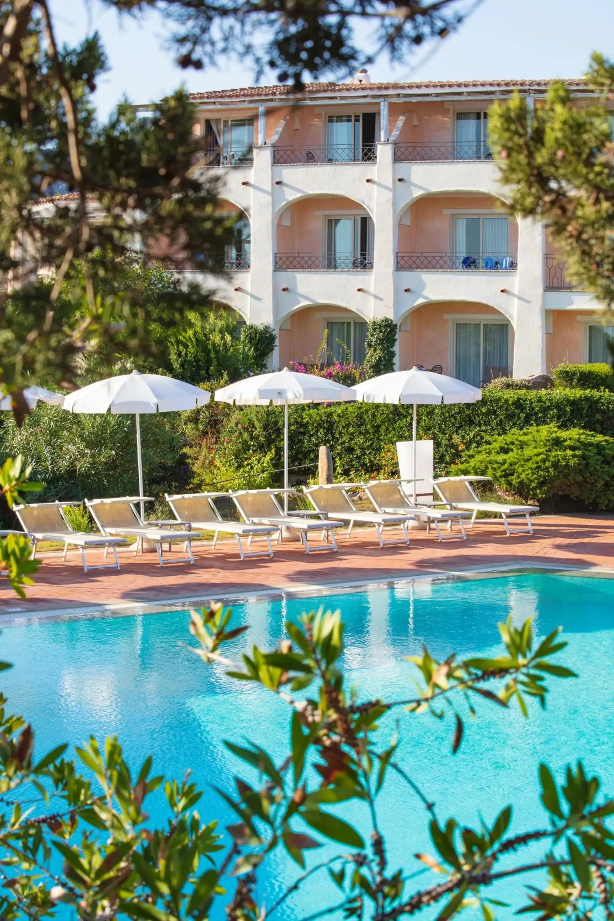
[[[199,412],[203,416],[198,429],[192,427],[191,440],[206,437],[208,415],[217,410],[207,407]],[[379,472],[385,449],[411,439],[411,415],[411,406],[378,403],[292,406],[290,465],[316,464],[319,445],[328,445],[337,478]],[[264,456],[272,448],[273,466],[282,467],[283,420],[279,407],[237,407],[224,416],[219,440],[237,469],[253,455]],[[447,472],[489,436],[547,425],[614,436],[614,393],[485,390],[480,402],[418,409],[418,435],[434,439],[437,474]]]

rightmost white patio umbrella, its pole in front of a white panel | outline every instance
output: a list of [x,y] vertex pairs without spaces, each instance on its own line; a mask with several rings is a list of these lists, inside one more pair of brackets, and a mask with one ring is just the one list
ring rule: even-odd
[[[356,398],[364,402],[413,403],[413,475],[416,475],[416,438],[418,435],[418,405],[437,403],[476,402],[481,390],[464,380],[448,378],[445,374],[412,367],[409,371],[391,371],[378,378],[365,380],[353,388]],[[416,482],[413,481],[413,501]]]

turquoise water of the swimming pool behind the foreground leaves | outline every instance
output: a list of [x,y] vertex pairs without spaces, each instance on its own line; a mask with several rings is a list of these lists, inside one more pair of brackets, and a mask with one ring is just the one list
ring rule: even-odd
[[[545,713],[533,707],[527,722],[516,709],[505,713],[481,706],[477,724],[468,726],[455,756],[449,720],[400,718],[399,760],[434,799],[440,820],[454,815],[476,823],[481,813],[492,821],[513,799],[513,828],[520,831],[544,822],[539,761],[561,775],[581,752],[586,769],[614,793],[613,602],[614,580],[547,574],[417,581],[326,599],[257,601],[236,607],[237,623],[250,629],[232,651],[238,656],[252,643],[272,647],[284,634],[285,619],[325,603],[342,610],[343,664],[353,682],[365,695],[398,697],[412,688],[411,666],[403,657],[423,643],[440,657],[453,649],[459,655],[488,655],[498,647],[497,621],[510,613],[516,623],[535,615],[539,635],[562,624],[569,647],[559,660],[578,671],[580,680],[553,680]],[[232,774],[241,770],[223,740],[248,737],[282,758],[287,711],[272,694],[229,680],[221,668],[206,668],[180,641],[191,642],[186,612],[8,626],[0,658],[15,668],[3,673],[0,686],[13,710],[34,724],[39,752],[58,741],[79,743],[91,733],[99,738],[116,733],[134,767],[153,752],[157,771],[180,776],[191,768],[205,788],[199,804],[203,818],[230,822],[231,813],[211,789],[230,791]],[[387,739],[388,728],[382,746]],[[379,810],[392,864],[417,867],[412,855],[431,849],[420,803],[390,776]],[[351,804],[344,814],[367,829],[361,807]],[[294,878],[294,866],[280,852],[261,877],[261,896],[271,905]],[[509,887],[499,893],[515,898]],[[329,897],[335,898],[334,890],[319,877],[273,917],[298,921]],[[511,915],[504,910],[502,916],[505,911]]]

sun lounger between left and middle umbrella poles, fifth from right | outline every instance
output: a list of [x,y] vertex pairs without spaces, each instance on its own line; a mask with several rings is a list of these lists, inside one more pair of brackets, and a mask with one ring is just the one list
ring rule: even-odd
[[[238,553],[242,560],[249,556],[272,556],[271,535],[278,527],[264,524],[246,524],[244,521],[226,521],[222,518],[215,506],[215,499],[227,493],[182,493],[164,497],[168,505],[180,521],[189,521],[192,530],[214,531],[214,549],[220,534],[233,534],[237,539]],[[263,537],[267,542],[268,550],[251,551],[246,553],[243,549],[243,539],[247,538],[251,545],[252,538]]]

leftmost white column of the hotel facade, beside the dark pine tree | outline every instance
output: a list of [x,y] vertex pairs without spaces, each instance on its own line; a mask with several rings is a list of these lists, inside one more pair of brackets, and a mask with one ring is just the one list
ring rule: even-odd
[[272,147],[254,147],[251,190],[249,322],[273,325]]

